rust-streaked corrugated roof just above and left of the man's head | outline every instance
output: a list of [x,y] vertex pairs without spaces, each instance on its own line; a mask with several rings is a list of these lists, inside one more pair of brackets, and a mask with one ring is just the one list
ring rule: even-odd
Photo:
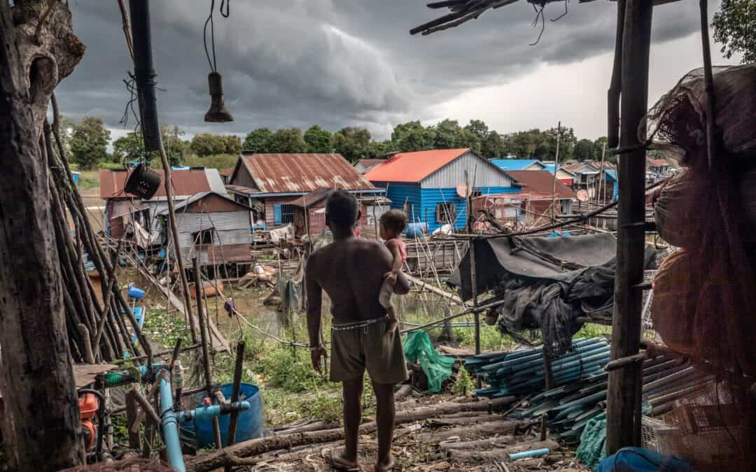
[[[258,191],[255,193],[302,193],[319,188],[375,190],[373,184],[341,154],[257,154],[240,156]],[[237,162],[231,181],[240,171]],[[249,192],[253,194],[252,192]]]

